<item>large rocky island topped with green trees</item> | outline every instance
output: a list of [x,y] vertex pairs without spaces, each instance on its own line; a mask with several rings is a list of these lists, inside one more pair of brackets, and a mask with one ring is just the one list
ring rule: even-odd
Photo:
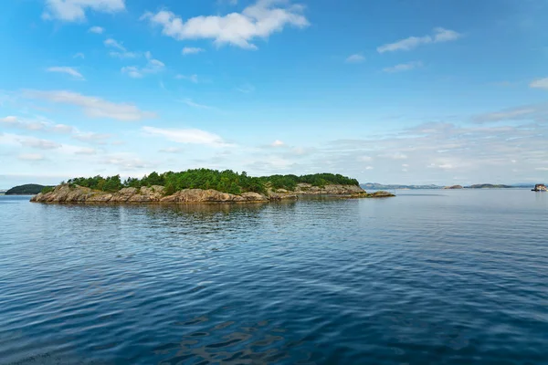
[[44,187],[31,199],[37,203],[260,203],[298,199],[305,195],[381,198],[387,192],[366,193],[357,180],[341,174],[271,175],[195,169],[152,172],[142,179],[120,175],[74,178]]

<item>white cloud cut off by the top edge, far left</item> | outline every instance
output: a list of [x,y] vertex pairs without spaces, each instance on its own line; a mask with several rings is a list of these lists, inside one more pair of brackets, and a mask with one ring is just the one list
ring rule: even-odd
[[125,0],[46,0],[44,19],[66,22],[86,20],[86,11],[116,13],[125,9]]

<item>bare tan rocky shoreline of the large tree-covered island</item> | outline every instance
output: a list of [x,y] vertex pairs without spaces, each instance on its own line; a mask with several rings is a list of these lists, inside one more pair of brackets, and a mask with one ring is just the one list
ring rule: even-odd
[[34,203],[267,203],[287,199],[299,199],[300,196],[328,195],[343,198],[385,198],[395,196],[387,192],[366,193],[355,185],[326,185],[324,187],[300,183],[294,191],[269,190],[267,194],[221,193],[216,190],[185,189],[171,195],[164,193],[163,186],[123,188],[117,193],[106,193],[74,184],[61,184],[51,192],[38,193],[32,199]]

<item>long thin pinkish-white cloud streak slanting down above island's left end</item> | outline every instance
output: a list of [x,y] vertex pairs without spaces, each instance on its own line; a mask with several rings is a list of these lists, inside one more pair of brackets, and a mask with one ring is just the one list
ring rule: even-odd
[[45,99],[59,104],[68,104],[81,108],[91,118],[110,118],[113,120],[143,120],[155,118],[149,111],[142,111],[133,104],[114,103],[98,97],[81,95],[77,92],[53,90],[26,90],[24,95],[32,99]]

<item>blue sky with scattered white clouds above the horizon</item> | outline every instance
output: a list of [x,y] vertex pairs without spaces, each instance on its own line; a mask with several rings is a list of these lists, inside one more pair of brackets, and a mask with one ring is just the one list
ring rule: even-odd
[[548,0],[10,0],[0,188],[213,168],[548,183]]

